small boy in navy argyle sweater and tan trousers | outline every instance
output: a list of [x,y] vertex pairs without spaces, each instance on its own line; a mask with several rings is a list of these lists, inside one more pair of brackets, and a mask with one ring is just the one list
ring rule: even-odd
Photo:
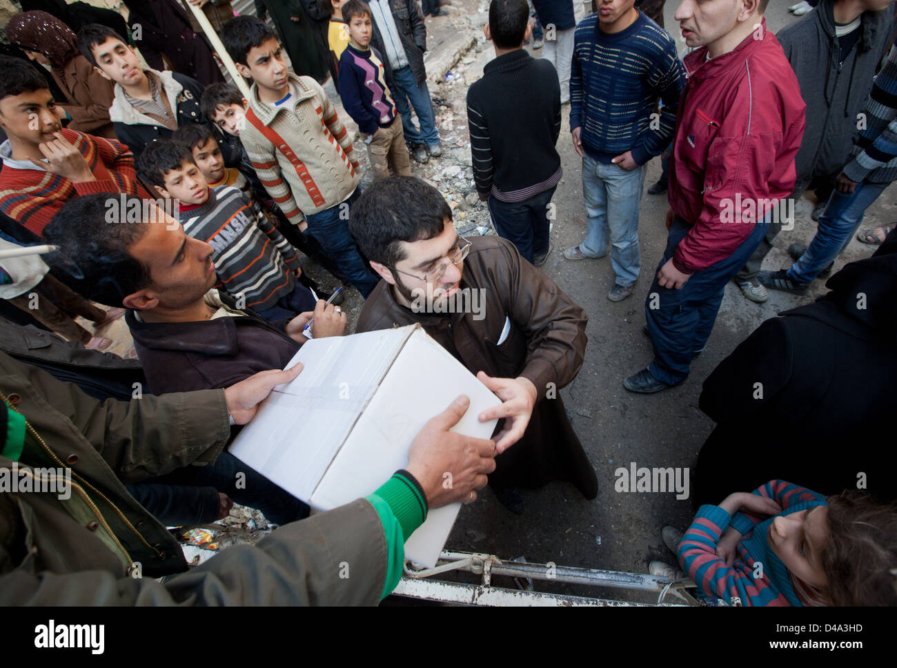
[[370,46],[370,7],[364,0],[343,5],[349,46],[339,61],[339,95],[368,145],[370,168],[378,177],[411,176],[401,117],[389,92],[383,59]]

